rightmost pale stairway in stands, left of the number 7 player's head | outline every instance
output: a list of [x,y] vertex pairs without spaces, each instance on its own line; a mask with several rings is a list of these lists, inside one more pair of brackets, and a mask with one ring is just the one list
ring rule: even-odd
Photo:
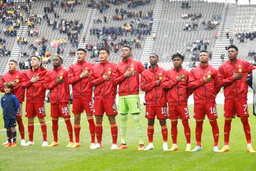
[[[211,65],[214,68],[218,68],[222,64],[222,60],[220,55],[222,53],[225,54],[225,61],[228,60],[228,53],[225,50],[225,46],[230,46],[230,39],[233,38],[233,31],[235,25],[235,17],[237,12],[237,6],[234,4],[225,4],[225,8],[223,10],[223,19],[220,24],[220,28],[218,31],[218,39],[215,44],[215,48],[213,51],[213,58],[211,60]],[[228,28],[229,30],[229,38],[227,38],[225,34],[225,30]]]

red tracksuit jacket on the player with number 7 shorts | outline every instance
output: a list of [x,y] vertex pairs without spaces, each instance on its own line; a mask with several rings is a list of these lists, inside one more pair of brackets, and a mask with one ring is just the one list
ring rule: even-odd
[[[236,59],[235,63],[226,61],[218,68],[218,84],[220,87],[224,86],[225,100],[247,98],[248,84],[246,78],[253,69],[255,67],[249,62],[240,59]],[[234,81],[233,73],[239,73],[239,70],[243,73],[243,77],[241,80]]]

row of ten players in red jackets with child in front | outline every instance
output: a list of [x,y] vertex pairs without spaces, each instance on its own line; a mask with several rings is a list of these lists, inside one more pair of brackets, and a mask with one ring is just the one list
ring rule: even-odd
[[[255,152],[251,145],[249,113],[247,110],[248,83],[252,88],[255,81],[252,76],[255,67],[247,61],[238,59],[238,48],[228,47],[229,60],[223,63],[218,70],[208,63],[209,54],[201,51],[200,65],[192,68],[190,72],[182,68],[184,57],[176,53],[171,56],[174,68],[164,71],[157,63],[159,56],[152,53],[149,56],[148,69],[145,69],[140,61],[132,58],[132,49],[129,46],[122,47],[122,62],[110,63],[108,58],[110,51],[102,48],[99,51],[100,63],[94,64],[85,61],[87,51],[78,48],[78,62],[63,68],[62,56],[53,56],[53,69],[47,71],[40,65],[40,57],[31,56],[31,68],[21,73],[17,71],[17,62],[9,61],[9,72],[1,78],[0,89],[4,92],[1,98],[1,106],[4,115],[4,127],[8,140],[5,147],[16,146],[16,123],[21,134],[21,145],[34,145],[34,118],[37,116],[41,124],[43,134],[42,146],[54,147],[58,145],[58,118],[63,117],[68,130],[69,143],[67,147],[80,147],[80,115],[84,111],[87,115],[91,135],[90,149],[102,148],[102,117],[105,113],[110,122],[112,134],[111,149],[124,150],[127,148],[126,130],[127,115],[132,114],[139,135],[138,150],[152,150],[154,135],[154,118],[159,120],[163,137],[163,150],[178,150],[177,124],[178,119],[184,127],[186,137],[186,151],[199,151],[201,135],[203,132],[203,120],[208,116],[213,132],[213,151],[228,152],[229,137],[232,119],[238,116],[242,122],[247,140],[247,151]],[[248,83],[247,83],[248,82]],[[74,124],[70,122],[69,100],[70,90],[73,90],[73,114]],[[121,143],[117,145],[117,106],[115,97],[119,85],[119,135]],[[92,103],[92,88],[94,87],[94,102]],[[217,111],[215,97],[224,88],[224,146],[218,149],[219,128],[217,123]],[[140,102],[139,88],[145,92],[146,118],[148,120],[147,135],[149,144],[144,147],[142,123],[139,118]],[[53,142],[48,145],[46,128],[46,111],[44,99],[46,90],[50,90],[50,117],[52,118]],[[28,142],[25,142],[24,126],[22,122],[22,103],[26,91],[26,117],[28,118]],[[191,150],[191,129],[188,124],[188,97],[193,93],[194,115],[196,119],[196,147]],[[167,106],[168,104],[168,111]],[[93,118],[95,116],[95,121]],[[167,145],[168,129],[166,119],[171,120],[171,139],[173,145],[169,149]],[[73,130],[75,141],[73,141]],[[97,138],[97,143],[95,142]]]

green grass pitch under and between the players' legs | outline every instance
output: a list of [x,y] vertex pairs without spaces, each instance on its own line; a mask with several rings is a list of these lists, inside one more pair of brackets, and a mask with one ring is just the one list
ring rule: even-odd
[[[72,108],[72,107],[70,107]],[[23,108],[24,110],[24,108]],[[147,144],[146,119],[144,118],[145,108],[142,108],[141,118],[144,128],[144,142]],[[191,145],[196,145],[195,140],[195,120],[193,119],[193,106],[189,106],[191,114]],[[50,105],[46,103],[46,120],[50,121]],[[223,105],[218,105],[218,124],[220,127],[219,147],[223,146]],[[252,113],[252,105],[250,105]],[[2,111],[0,111],[2,115]],[[73,115],[73,114],[72,114]],[[213,152],[213,135],[211,133],[208,119],[203,125],[203,150],[200,152],[185,152],[186,140],[183,134],[183,126],[178,123],[178,147],[176,152],[164,152],[161,150],[162,138],[159,123],[155,122],[154,150],[137,151],[138,138],[136,126],[132,117],[127,123],[127,150],[110,150],[112,138],[110,135],[110,125],[107,118],[103,122],[102,149],[90,150],[90,135],[87,120],[83,114],[80,132],[80,147],[70,149],[65,147],[68,144],[68,133],[65,123],[59,123],[59,142],[57,147],[41,147],[42,135],[40,125],[35,126],[35,145],[21,147],[19,145],[20,135],[18,135],[17,147],[0,147],[0,170],[256,170],[256,154],[246,151],[245,134],[242,123],[235,118],[232,123],[230,133],[230,152]],[[23,118],[27,125],[27,119]],[[73,120],[72,120],[73,122]],[[36,123],[38,120],[36,119]],[[117,124],[119,116],[117,115]],[[256,119],[250,116],[252,133],[252,145],[256,141]],[[51,123],[48,126],[48,142],[53,140]],[[4,128],[3,120],[0,120],[0,129]],[[18,128],[17,128],[18,130]],[[26,141],[28,141],[28,130],[26,130]],[[169,147],[171,147],[170,120],[168,120]],[[6,140],[6,131],[0,131],[0,142]],[[118,139],[119,142],[119,139]],[[256,148],[256,145],[255,145]]]

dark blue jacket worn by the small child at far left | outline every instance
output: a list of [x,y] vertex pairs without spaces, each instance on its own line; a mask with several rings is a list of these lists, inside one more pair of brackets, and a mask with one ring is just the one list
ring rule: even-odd
[[5,94],[1,98],[1,107],[3,108],[4,119],[15,119],[18,111],[18,99],[12,93]]

